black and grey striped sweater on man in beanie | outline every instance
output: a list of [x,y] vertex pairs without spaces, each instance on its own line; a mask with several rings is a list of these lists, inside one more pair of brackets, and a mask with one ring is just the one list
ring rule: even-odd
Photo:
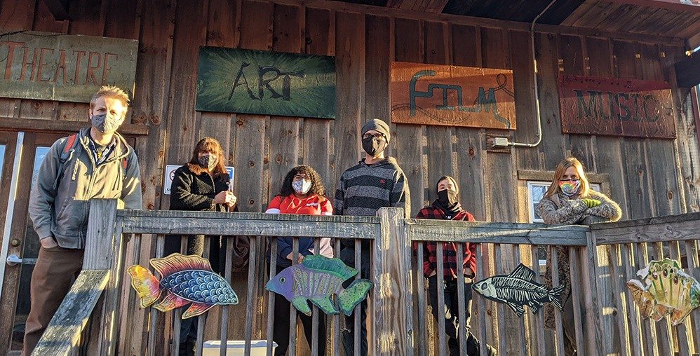
[[408,181],[393,157],[367,165],[361,160],[340,176],[333,201],[336,215],[374,217],[380,207],[403,207],[410,217]]

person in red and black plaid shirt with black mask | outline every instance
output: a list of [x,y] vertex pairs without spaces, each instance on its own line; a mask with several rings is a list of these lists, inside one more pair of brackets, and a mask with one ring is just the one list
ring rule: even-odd
[[[462,209],[459,205],[459,187],[455,179],[445,176],[438,179],[436,186],[438,199],[433,205],[424,207],[416,215],[417,219],[443,219],[457,221],[474,221],[472,214]],[[417,243],[413,244],[414,252],[418,248]],[[471,285],[472,278],[476,272],[476,246],[465,243],[463,256],[457,256],[457,244],[455,242],[443,243],[443,261],[437,260],[437,243],[425,242],[423,244],[423,274],[428,279],[428,294],[433,317],[437,322],[445,320],[445,334],[447,334],[447,345],[450,348],[450,355],[480,355],[480,343],[469,331],[469,320],[471,318]],[[438,311],[438,276],[437,263],[443,263],[443,275],[445,284],[445,310]],[[457,276],[457,263],[464,266],[464,276]],[[466,330],[466,352],[459,352],[459,336],[457,329],[460,324],[459,308],[457,305],[458,288],[464,288],[464,306],[466,310],[466,320],[462,321]],[[496,350],[490,345],[486,345],[487,355],[496,355]]]

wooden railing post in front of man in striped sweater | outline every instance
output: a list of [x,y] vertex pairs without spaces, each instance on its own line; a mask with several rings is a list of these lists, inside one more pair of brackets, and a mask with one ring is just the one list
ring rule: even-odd
[[376,237],[372,259],[375,352],[370,353],[408,355],[414,350],[410,236],[403,209],[382,207],[377,216],[380,235]]

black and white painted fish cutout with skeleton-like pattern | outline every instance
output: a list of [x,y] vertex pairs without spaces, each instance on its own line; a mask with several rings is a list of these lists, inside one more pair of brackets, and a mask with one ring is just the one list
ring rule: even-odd
[[486,299],[505,303],[519,317],[525,313],[523,306],[530,307],[532,313],[542,308],[544,303],[552,303],[562,310],[561,292],[564,285],[547,289],[544,285],[534,282],[534,271],[520,263],[509,275],[494,275],[476,282],[472,289]]

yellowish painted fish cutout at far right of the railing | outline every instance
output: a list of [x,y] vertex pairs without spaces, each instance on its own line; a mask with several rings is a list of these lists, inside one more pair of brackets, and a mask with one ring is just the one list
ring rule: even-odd
[[700,283],[683,272],[678,261],[650,261],[637,275],[641,280],[629,280],[627,287],[642,317],[658,322],[671,315],[675,326],[700,306]]

